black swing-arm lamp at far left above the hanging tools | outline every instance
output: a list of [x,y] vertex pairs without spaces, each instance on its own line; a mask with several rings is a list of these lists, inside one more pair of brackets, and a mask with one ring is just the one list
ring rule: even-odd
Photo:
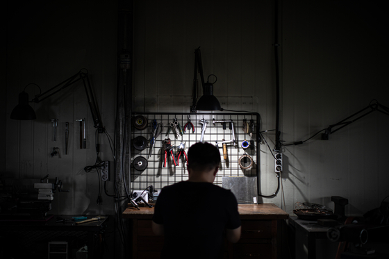
[[[31,102],[40,103],[44,99],[51,97],[51,95],[56,94],[60,90],[63,90],[69,85],[72,85],[80,80],[83,81],[86,97],[88,98],[88,104],[89,104],[90,111],[92,112],[94,128],[98,128],[99,133],[104,133],[104,126],[103,123],[101,122],[101,116],[99,113],[99,109],[97,108],[96,101],[94,101],[94,95],[93,95],[92,87],[90,86],[87,69],[81,69],[74,76],[71,76],[67,78],[65,81],[63,81],[62,83],[59,83],[54,87],[51,87],[46,92],[42,92],[40,90],[39,85],[36,85],[35,83],[29,83],[28,85],[38,86],[40,90],[40,93],[35,95],[34,99],[32,99]],[[26,85],[26,87],[28,85]],[[24,87],[23,92],[19,94],[19,103],[11,112],[10,115],[11,119],[20,119],[20,120],[36,119],[35,111],[28,104],[28,94],[25,92],[26,87]]]

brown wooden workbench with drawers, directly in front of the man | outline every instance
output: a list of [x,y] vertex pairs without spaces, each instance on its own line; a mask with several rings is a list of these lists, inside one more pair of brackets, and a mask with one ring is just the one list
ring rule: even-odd
[[[242,235],[238,243],[224,240],[223,258],[281,258],[279,225],[288,219],[288,213],[272,203],[238,204],[242,220]],[[154,207],[129,207],[122,217],[131,219],[132,258],[159,258],[163,248],[163,237],[154,235],[151,218]]]

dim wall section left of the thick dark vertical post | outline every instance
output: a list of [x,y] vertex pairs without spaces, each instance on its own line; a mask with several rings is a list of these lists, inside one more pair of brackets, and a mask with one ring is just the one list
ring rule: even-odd
[[[67,1],[54,3],[26,2],[21,6],[8,1],[5,26],[6,59],[5,101],[1,138],[2,165],[0,176],[10,178],[42,178],[49,174],[63,181],[69,193],[54,194],[52,214],[112,214],[113,201],[101,189],[103,203],[97,205],[99,181],[96,170],[85,173],[84,167],[94,165],[95,128],[85,90],[80,82],[41,103],[32,103],[37,119],[17,121],[10,112],[17,105],[19,92],[28,83],[36,83],[42,92],[86,68],[94,87],[104,126],[113,137],[115,122],[115,89],[117,64],[117,1]],[[3,78],[3,77],[2,77]],[[28,86],[30,99],[39,93]],[[87,149],[79,148],[76,119],[87,120]],[[57,141],[53,142],[53,124],[58,121]],[[65,122],[69,122],[69,151],[65,155]],[[113,161],[105,135],[99,135],[102,160]],[[60,148],[61,158],[51,158],[53,147]],[[112,183],[108,191],[113,193]],[[103,185],[101,185],[102,187]]]

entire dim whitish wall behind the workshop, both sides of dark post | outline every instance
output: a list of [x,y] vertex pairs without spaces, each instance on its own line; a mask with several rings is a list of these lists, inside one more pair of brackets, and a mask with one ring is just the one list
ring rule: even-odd
[[[103,3],[104,2],[104,3]],[[216,74],[215,95],[227,109],[253,110],[262,130],[275,127],[274,10],[272,1],[135,1],[133,110],[188,112],[195,48],[201,46],[204,74]],[[305,140],[329,124],[365,108],[372,99],[388,100],[388,39],[381,6],[359,1],[283,1],[281,5],[281,131],[285,143]],[[63,179],[69,194],[56,194],[53,212],[110,210],[97,206],[93,165],[94,128],[80,85],[34,104],[34,122],[9,119],[17,94],[27,83],[49,89],[88,68],[108,132],[113,134],[117,60],[117,6],[106,1],[44,4],[8,3],[6,46],[1,78],[5,133],[1,176]],[[6,53],[6,54],[5,54]],[[30,97],[37,93],[31,87]],[[56,103],[56,104],[55,104]],[[51,141],[51,118],[60,119]],[[88,119],[88,149],[78,149],[74,119]],[[72,125],[69,155],[51,158],[62,147],[63,125]],[[361,215],[388,195],[389,117],[374,112],[330,135],[285,147],[283,189],[286,210],[297,201],[332,207],[330,197],[349,199],[347,213]],[[265,135],[274,147],[274,134]],[[101,136],[104,160],[112,160]],[[274,160],[260,146],[263,194],[276,190]],[[108,190],[112,190],[110,183]],[[264,202],[281,206],[281,192]],[[105,206],[108,206],[106,208]]]

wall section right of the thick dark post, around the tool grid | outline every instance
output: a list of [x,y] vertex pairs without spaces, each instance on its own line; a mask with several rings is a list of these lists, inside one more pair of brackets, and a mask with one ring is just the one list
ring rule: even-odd
[[[280,6],[281,138],[306,140],[367,107],[389,106],[386,35],[380,6],[359,1],[283,1]],[[260,113],[275,128],[274,1],[135,1],[133,110],[189,112],[194,50],[217,75],[222,107]],[[349,199],[361,215],[388,195],[389,117],[380,112],[330,135],[283,147],[286,211]],[[274,133],[265,137],[274,147]],[[276,190],[274,159],[260,146],[260,189]],[[281,192],[263,199],[281,207]]]

